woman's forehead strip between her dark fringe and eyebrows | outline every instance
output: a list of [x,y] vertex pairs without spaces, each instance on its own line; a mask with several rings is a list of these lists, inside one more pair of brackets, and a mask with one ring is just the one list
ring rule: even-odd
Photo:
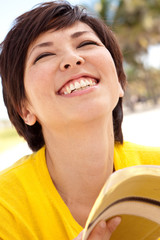
[[86,34],[95,34],[95,32],[93,31],[93,29],[91,27],[89,27],[87,24],[82,23],[80,21],[75,22],[73,25],[69,26],[69,27],[65,27],[59,30],[54,30],[51,29],[47,32],[41,33],[29,46],[29,50],[31,48],[33,48],[35,45],[40,44],[42,42],[44,42],[45,40],[48,39],[48,37],[52,34],[52,38],[54,41],[54,38],[56,37],[78,37],[76,33],[86,33]]

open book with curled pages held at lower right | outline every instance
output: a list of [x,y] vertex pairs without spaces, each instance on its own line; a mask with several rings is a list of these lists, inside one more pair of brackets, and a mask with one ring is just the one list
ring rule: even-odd
[[160,239],[160,166],[142,165],[114,172],[88,217],[83,240],[102,219],[121,216],[111,240]]

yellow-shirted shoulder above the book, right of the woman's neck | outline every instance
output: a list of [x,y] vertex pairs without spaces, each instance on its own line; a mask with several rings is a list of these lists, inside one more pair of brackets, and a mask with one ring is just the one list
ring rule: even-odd
[[116,143],[114,148],[115,168],[124,168],[133,165],[159,165],[160,147],[139,145],[131,142]]

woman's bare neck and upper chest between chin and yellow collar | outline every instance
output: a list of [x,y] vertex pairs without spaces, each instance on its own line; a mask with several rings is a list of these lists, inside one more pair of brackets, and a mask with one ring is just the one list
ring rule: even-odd
[[79,203],[89,212],[113,171],[112,119],[44,135],[47,165],[58,192],[68,206]]

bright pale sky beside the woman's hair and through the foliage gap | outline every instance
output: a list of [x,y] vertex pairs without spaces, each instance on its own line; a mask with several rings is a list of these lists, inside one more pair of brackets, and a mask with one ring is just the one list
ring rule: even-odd
[[[30,10],[34,5],[42,1],[47,2],[48,0],[4,0],[0,7],[0,42],[5,38],[16,17]],[[71,4],[82,4],[84,2],[91,4],[94,0],[68,0],[68,2]],[[147,64],[160,68],[160,46],[159,48],[151,47],[149,49],[149,56]],[[0,120],[1,119],[8,119],[8,116],[3,104],[2,86],[0,84]]]

